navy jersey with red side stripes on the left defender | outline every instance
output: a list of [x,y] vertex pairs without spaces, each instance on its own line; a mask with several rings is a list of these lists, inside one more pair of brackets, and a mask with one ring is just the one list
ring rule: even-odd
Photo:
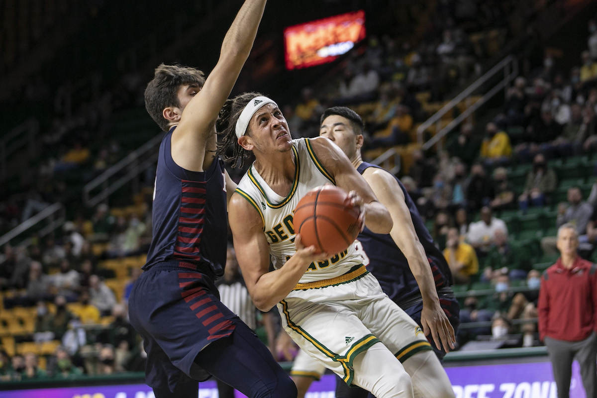
[[224,163],[214,158],[203,172],[181,168],[171,155],[175,128],[168,131],[159,147],[153,236],[143,269],[161,261],[180,260],[203,270],[207,266],[213,276],[221,276],[228,232]]

